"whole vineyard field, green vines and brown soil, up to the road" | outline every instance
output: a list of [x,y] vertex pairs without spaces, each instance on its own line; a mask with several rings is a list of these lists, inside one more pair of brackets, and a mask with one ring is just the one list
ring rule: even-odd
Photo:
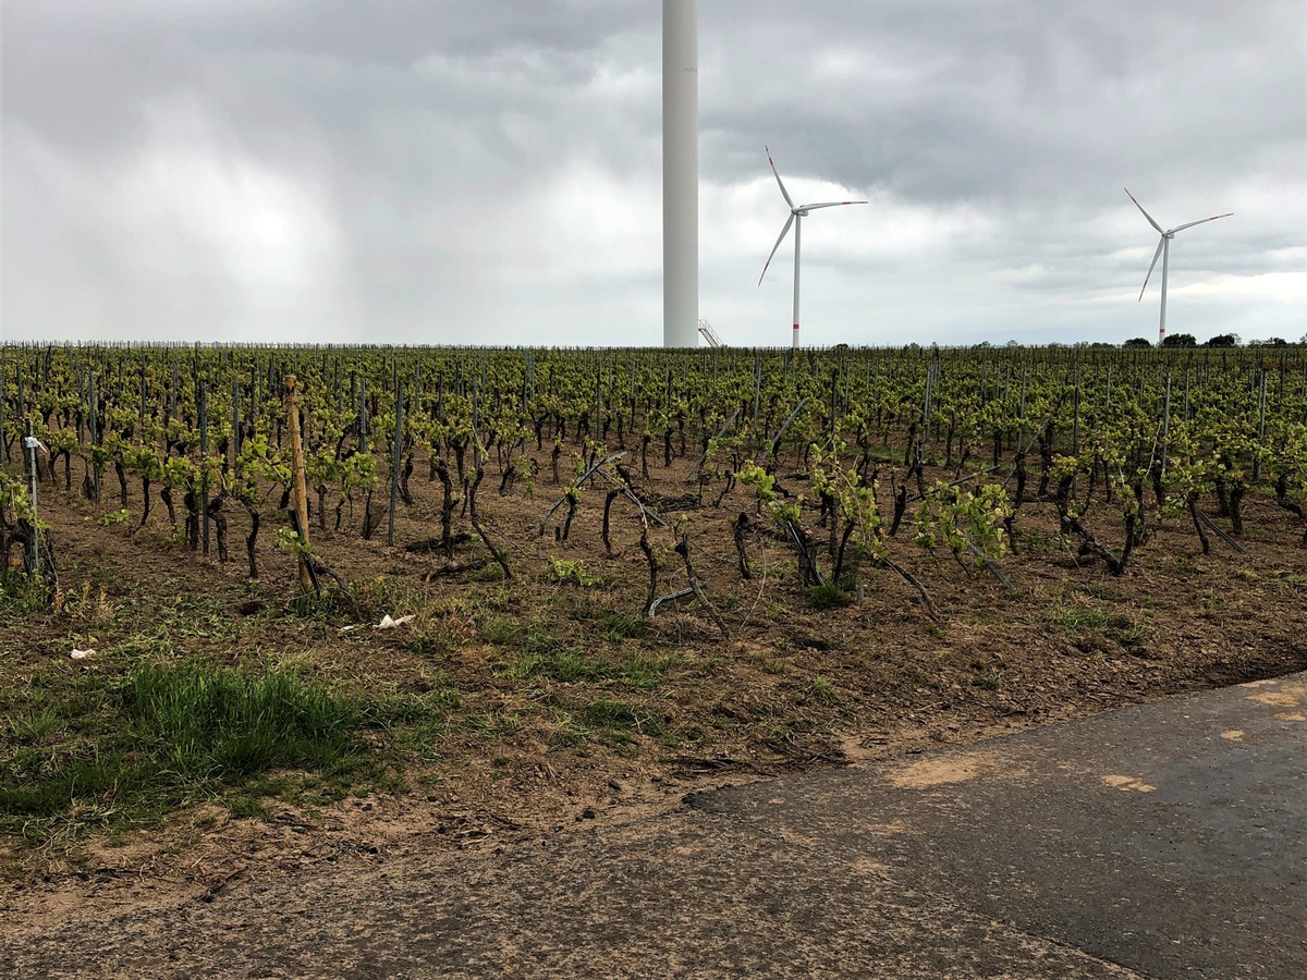
[[[94,758],[150,670],[344,698],[388,775],[322,805],[493,809],[1307,665],[1302,348],[7,345],[0,393],[30,839],[146,819]],[[294,796],[234,770],[167,806]]]

